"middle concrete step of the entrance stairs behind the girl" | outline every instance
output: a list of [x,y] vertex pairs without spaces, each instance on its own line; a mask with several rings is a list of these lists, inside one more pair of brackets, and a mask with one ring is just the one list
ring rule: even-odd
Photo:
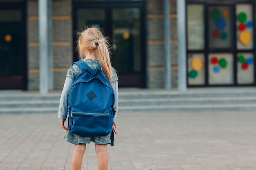
[[[194,105],[194,104],[248,104],[255,103],[256,97],[190,97],[190,98],[141,98],[119,99],[119,106],[141,105]],[[27,99],[0,101],[1,108],[16,107],[57,107],[59,99]]]

